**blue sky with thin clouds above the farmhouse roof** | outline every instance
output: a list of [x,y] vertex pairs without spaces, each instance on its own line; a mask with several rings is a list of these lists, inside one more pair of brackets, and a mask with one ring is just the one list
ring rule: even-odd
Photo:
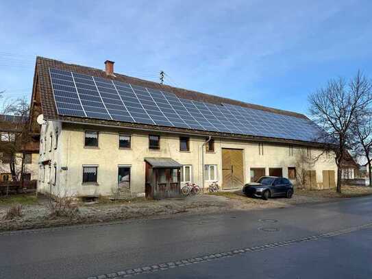
[[[63,3],[62,3],[63,2]],[[1,1],[0,90],[37,56],[307,112],[332,77],[372,72],[371,1]],[[1,103],[1,100],[0,100]]]

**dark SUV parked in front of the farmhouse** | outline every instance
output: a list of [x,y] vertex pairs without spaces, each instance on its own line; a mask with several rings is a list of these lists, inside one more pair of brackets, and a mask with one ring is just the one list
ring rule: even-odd
[[257,182],[245,184],[243,193],[247,197],[262,197],[262,199],[270,197],[288,197],[290,199],[293,195],[293,184],[286,178],[262,176]]

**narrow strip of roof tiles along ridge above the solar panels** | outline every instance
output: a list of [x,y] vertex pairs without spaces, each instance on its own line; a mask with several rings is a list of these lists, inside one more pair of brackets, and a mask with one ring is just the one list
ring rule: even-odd
[[[36,56],[36,63],[37,63],[38,60],[49,60],[50,62],[63,63],[66,66],[84,68],[87,71],[100,71],[103,75],[106,75],[106,72],[104,70],[93,68],[93,67],[90,67],[90,66],[82,66],[82,65],[79,65],[79,64],[73,64],[73,63],[63,62],[63,61],[55,60],[55,59],[51,59],[51,58],[45,58],[45,57],[42,57],[42,56]],[[242,107],[245,107],[245,108],[252,108],[252,109],[256,109],[256,110],[264,110],[266,112],[272,112],[272,113],[276,113],[276,114],[285,114],[285,115],[292,116],[292,117],[308,119],[308,117],[306,117],[305,114],[301,114],[299,112],[293,112],[293,111],[290,111],[290,110],[281,110],[279,108],[271,108],[271,107],[267,107],[267,106],[261,106],[261,105],[258,105],[258,104],[250,104],[250,103],[247,103],[245,101],[238,101],[238,100],[235,100],[235,99],[220,97],[220,96],[212,95],[212,94],[208,94],[208,93],[202,93],[202,92],[199,92],[199,91],[196,91],[196,90],[179,88],[179,87],[175,87],[175,86],[170,86],[168,84],[158,84],[157,82],[152,82],[152,81],[149,81],[149,80],[143,80],[143,79],[140,79],[138,77],[131,77],[129,75],[124,75],[124,74],[121,74],[121,73],[114,73],[114,75],[115,76],[106,75],[106,78],[111,79],[111,80],[116,80],[119,77],[119,78],[124,78],[126,80],[132,80],[132,82],[134,80],[135,82],[138,82],[138,83],[146,83],[147,85],[145,87],[149,87],[149,84],[150,84],[151,85],[150,87],[155,87],[156,89],[167,88],[167,90],[170,90],[172,93],[175,93],[176,95],[178,95],[178,97],[180,97],[180,95],[181,95],[181,98],[183,98],[183,99],[193,99],[195,101],[203,101],[203,102],[210,103],[210,104],[226,103],[226,104],[232,104],[232,105],[235,105],[235,106],[242,106]],[[141,85],[141,86],[143,86],[143,85]],[[197,96],[197,95],[199,95],[199,96]]]

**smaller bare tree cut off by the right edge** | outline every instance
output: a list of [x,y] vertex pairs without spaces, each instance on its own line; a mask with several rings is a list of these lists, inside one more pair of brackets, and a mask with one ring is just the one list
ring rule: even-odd
[[352,131],[356,134],[354,152],[356,156],[367,159],[369,185],[372,186],[372,114],[367,111],[362,117],[356,118]]

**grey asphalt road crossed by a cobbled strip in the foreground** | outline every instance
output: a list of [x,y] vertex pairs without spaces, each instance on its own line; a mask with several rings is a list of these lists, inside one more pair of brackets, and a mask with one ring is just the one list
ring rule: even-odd
[[[306,236],[313,239],[300,241]],[[221,252],[230,254],[214,256]],[[208,260],[189,263],[200,256]],[[371,278],[371,263],[372,197],[0,234],[0,278],[88,278],[152,265],[159,271],[134,277]]]

